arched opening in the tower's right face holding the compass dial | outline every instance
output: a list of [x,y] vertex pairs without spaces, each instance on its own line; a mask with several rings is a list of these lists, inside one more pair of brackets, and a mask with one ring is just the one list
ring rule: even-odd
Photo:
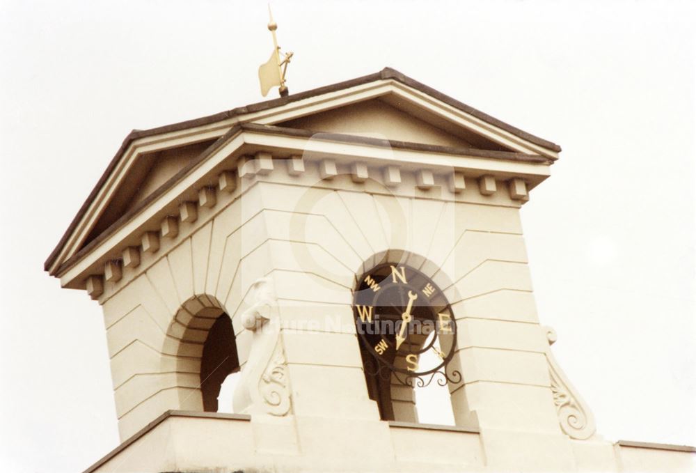
[[[455,425],[451,393],[461,387],[453,359],[454,313],[425,258],[374,258],[354,289],[354,315],[367,392],[381,419]],[[450,363],[452,362],[452,363]]]

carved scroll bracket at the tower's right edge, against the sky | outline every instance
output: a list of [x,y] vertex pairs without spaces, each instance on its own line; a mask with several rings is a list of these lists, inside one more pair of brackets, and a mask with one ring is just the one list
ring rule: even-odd
[[549,345],[546,350],[546,359],[548,361],[548,372],[551,375],[553,403],[556,406],[560,426],[562,431],[571,438],[586,440],[592,437],[592,434],[596,431],[594,417],[590,408],[578,394],[577,389],[571,385],[563,370],[558,366],[558,362],[551,352],[551,345],[558,338],[555,330],[551,327],[542,328],[546,331],[546,339]]

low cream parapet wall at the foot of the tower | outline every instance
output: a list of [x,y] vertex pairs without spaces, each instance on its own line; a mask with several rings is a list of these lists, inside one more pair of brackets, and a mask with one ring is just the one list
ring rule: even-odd
[[[332,427],[336,423],[330,423]],[[571,442],[571,452],[530,449],[525,456],[484,451],[487,437],[461,428],[344,423],[343,435],[328,435],[330,448],[287,442],[278,426],[230,414],[173,412],[93,467],[92,472],[277,471],[277,472],[692,472],[696,453],[669,445]],[[379,426],[383,429],[376,430]],[[386,433],[386,435],[381,435]],[[378,435],[376,435],[378,434]],[[527,435],[520,433],[519,437]],[[349,439],[349,440],[347,440]],[[624,442],[626,443],[626,442]],[[557,445],[552,445],[557,447]],[[301,447],[298,449],[298,447]],[[558,467],[559,456],[567,463]],[[502,460],[516,465],[500,466]]]

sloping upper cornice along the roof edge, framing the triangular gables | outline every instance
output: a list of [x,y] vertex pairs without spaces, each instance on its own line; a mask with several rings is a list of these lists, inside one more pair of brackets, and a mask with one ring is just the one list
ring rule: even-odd
[[[399,102],[408,104],[411,108],[422,109],[431,116],[439,117],[442,123],[449,123],[453,129],[461,128],[475,132],[501,146],[515,150],[511,155],[519,153],[530,157],[544,156],[553,161],[560,152],[560,146],[550,141],[507,125],[400,72],[386,68],[377,74],[293,94],[287,98],[238,107],[220,114],[150,130],[134,130],[123,141],[97,185],[47,258],[45,270],[56,275],[58,267],[79,251],[111,196],[127,178],[129,169],[140,156],[158,150],[219,139],[240,123],[274,125],[299,116],[387,95],[397,98]],[[391,146],[399,147],[400,142],[395,141]],[[450,150],[454,154],[459,151],[461,150]],[[469,153],[475,151],[470,150]],[[445,150],[441,152],[444,153]]]

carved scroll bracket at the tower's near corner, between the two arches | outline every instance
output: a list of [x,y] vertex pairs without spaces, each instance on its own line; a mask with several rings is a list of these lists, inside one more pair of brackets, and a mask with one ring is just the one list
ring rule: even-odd
[[253,332],[242,378],[235,389],[235,412],[284,416],[290,412],[290,386],[280,339],[278,299],[271,278],[251,286],[253,304],[242,313],[242,325]]

